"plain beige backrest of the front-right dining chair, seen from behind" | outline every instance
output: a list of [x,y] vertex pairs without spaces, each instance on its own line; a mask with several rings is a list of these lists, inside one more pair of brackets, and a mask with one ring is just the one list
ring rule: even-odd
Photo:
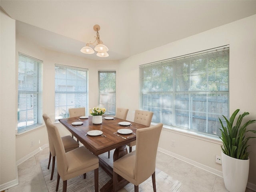
[[137,129],[134,179],[142,183],[156,170],[156,153],[163,124]]

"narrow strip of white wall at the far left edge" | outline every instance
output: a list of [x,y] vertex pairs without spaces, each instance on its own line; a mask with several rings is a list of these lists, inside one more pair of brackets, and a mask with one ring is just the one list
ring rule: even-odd
[[16,180],[15,127],[17,119],[15,74],[15,20],[0,12],[0,186]]

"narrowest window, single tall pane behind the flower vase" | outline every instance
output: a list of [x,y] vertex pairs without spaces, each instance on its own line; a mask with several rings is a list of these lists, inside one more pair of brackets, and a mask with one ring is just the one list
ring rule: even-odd
[[99,106],[105,114],[116,114],[116,71],[98,71]]

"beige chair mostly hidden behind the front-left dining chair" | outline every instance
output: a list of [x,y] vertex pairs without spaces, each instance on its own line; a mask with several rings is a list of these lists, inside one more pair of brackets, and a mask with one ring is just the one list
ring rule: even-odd
[[[48,115],[46,115],[46,114],[43,114],[43,118],[44,118],[45,125],[47,127],[48,126],[47,119],[49,119],[50,122],[51,122],[51,120],[48,117]],[[48,132],[48,129],[47,129],[47,132]],[[63,142],[63,145],[64,145],[65,152],[71,151],[71,150],[79,147],[78,142],[76,142],[70,135],[64,136],[61,139],[62,139],[62,142]],[[50,178],[50,180],[52,180],[53,173],[54,173],[56,152],[55,152],[55,149],[54,149],[53,142],[50,138],[50,133],[49,132],[48,132],[48,140],[49,140],[49,149],[50,149],[48,169],[50,168],[50,163],[51,163],[51,159],[52,159],[52,174],[51,174],[51,178]]]

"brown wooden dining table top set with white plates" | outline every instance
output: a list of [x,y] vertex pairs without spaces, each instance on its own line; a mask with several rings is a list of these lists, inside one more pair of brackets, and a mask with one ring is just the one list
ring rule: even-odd
[[[102,117],[105,117],[103,115]],[[83,122],[82,125],[73,126],[72,122]],[[92,124],[92,116],[87,119],[81,119],[79,117],[60,119],[59,122],[64,125],[86,148],[88,148],[95,155],[108,152],[109,150],[124,146],[134,140],[136,140],[136,130],[138,128],[146,128],[142,124],[131,122],[130,126],[120,126],[119,122],[127,120],[114,118],[113,120],[106,120],[102,118],[102,124]],[[116,134],[119,129],[130,129],[133,131],[132,134],[119,134],[125,137],[123,139]],[[106,137],[102,136],[90,136],[87,134],[90,130],[101,130]]]

